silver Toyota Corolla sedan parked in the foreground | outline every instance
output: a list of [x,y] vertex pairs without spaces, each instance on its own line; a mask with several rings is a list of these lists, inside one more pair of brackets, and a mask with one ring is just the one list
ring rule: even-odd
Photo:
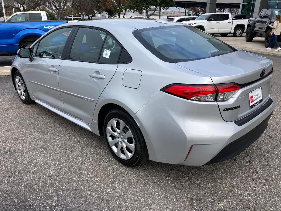
[[20,49],[11,79],[23,103],[104,136],[124,165],[200,166],[263,133],[272,72],[271,60],[192,26],[104,19],[58,26]]

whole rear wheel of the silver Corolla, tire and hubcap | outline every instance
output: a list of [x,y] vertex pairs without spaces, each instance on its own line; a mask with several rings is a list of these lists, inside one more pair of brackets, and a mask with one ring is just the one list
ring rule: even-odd
[[137,166],[148,158],[144,137],[135,120],[125,110],[109,111],[104,121],[105,142],[117,161]]

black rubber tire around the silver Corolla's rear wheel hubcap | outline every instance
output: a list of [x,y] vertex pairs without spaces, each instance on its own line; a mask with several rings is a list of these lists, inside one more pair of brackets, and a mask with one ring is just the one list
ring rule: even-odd
[[[115,154],[115,152],[112,150],[112,148],[109,145],[108,137],[106,134],[106,128],[107,128],[109,121],[114,118],[122,120],[128,126],[128,129],[131,130],[132,136],[134,137],[135,151],[134,151],[134,154],[132,155],[132,157],[128,160],[118,157],[117,154]],[[116,127],[118,129],[117,123],[116,123]],[[103,130],[104,130],[105,143],[108,146],[108,149],[110,150],[113,157],[115,157],[115,159],[117,161],[119,161],[121,164],[123,164],[125,166],[133,167],[133,166],[137,166],[137,165],[144,163],[148,159],[148,151],[147,151],[146,142],[144,140],[142,132],[139,129],[139,126],[136,124],[135,120],[132,118],[132,116],[129,115],[129,113],[126,112],[125,110],[123,110],[121,108],[115,108],[115,109],[110,110],[107,113],[107,115],[105,116]],[[123,152],[124,152],[124,150],[123,150]],[[123,153],[123,154],[125,154],[125,153]]]

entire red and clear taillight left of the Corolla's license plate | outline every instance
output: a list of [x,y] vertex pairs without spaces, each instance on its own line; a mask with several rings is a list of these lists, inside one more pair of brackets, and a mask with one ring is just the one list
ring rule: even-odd
[[241,87],[234,83],[211,85],[171,84],[161,91],[188,100],[214,102],[231,98]]

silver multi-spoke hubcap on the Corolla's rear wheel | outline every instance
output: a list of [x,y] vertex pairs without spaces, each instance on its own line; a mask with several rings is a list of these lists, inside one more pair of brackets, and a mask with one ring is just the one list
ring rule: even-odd
[[135,152],[135,140],[129,127],[121,119],[111,119],[106,126],[106,136],[111,149],[124,159],[130,159]]

